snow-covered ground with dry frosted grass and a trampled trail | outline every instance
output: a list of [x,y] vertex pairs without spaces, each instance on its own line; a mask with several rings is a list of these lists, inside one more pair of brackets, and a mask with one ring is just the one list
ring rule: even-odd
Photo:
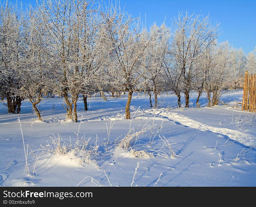
[[[177,108],[175,95],[166,93],[150,108],[148,96],[134,94],[131,120],[125,119],[127,95],[106,94],[107,102],[90,98],[88,111],[79,99],[78,123],[65,122],[59,97],[40,105],[43,123],[29,101],[20,114],[8,114],[1,104],[0,185],[256,186],[256,117],[241,111],[242,94],[229,91],[221,98],[226,105],[210,108],[205,94],[201,108],[193,108],[196,93],[191,108]],[[58,136],[56,148],[52,138]],[[125,137],[132,150],[119,147]]]

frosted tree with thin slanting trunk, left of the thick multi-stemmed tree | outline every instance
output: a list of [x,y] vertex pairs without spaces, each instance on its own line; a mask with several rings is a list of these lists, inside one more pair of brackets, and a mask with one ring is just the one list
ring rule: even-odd
[[50,40],[38,12],[33,8],[22,12],[21,27],[21,87],[17,90],[17,94],[29,99],[38,120],[42,121],[37,105],[50,90],[51,57],[48,55],[51,50]]

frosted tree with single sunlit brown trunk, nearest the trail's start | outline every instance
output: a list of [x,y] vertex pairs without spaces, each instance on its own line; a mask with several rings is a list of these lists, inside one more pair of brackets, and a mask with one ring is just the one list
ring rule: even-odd
[[152,43],[152,38],[141,38],[139,19],[132,19],[118,7],[111,5],[103,18],[106,25],[105,37],[108,38],[106,51],[109,54],[109,63],[111,68],[118,70],[117,81],[128,91],[125,117],[130,119],[132,93],[143,88],[142,77],[146,72],[140,62],[145,49]]

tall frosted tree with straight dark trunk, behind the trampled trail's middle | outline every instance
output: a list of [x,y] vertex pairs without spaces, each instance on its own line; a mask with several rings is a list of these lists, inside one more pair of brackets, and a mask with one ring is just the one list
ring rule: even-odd
[[196,75],[195,62],[200,58],[204,45],[211,45],[217,39],[218,27],[219,24],[211,24],[209,15],[202,17],[187,12],[180,13],[173,21],[173,59],[182,79],[180,84],[185,94],[186,107],[189,107],[189,95]]

